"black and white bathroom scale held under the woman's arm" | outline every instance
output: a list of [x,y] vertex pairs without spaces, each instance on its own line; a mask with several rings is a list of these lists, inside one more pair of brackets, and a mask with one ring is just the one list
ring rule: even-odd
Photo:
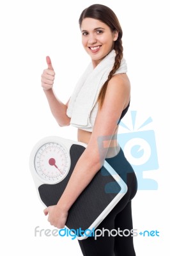
[[[45,207],[58,203],[86,147],[86,143],[58,136],[42,138],[33,147],[29,167],[38,197]],[[102,168],[70,207],[66,228],[79,240],[88,238],[125,193],[127,184],[104,161]]]

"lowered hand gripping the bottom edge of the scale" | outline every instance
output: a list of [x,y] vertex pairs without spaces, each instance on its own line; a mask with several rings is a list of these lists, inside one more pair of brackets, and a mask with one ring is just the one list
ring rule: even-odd
[[47,207],[43,212],[45,215],[49,214],[48,221],[50,225],[57,228],[65,227],[68,211],[61,209],[58,205],[52,205]]

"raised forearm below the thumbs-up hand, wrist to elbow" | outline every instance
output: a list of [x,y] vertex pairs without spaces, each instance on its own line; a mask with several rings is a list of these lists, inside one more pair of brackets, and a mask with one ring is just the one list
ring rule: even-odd
[[56,97],[52,89],[44,90],[44,92],[49,102],[50,111],[59,126],[70,125],[70,117],[66,115],[67,106]]

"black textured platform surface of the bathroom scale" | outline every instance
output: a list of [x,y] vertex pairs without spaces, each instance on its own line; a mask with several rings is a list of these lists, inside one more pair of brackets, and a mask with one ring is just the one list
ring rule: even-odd
[[[39,186],[40,198],[47,207],[57,204],[72,175],[75,164],[84,150],[85,147],[82,145],[73,144],[70,147],[70,170],[65,179],[57,184],[42,184]],[[120,191],[120,184],[103,166],[70,208],[66,227],[75,230],[77,228],[88,229]]]

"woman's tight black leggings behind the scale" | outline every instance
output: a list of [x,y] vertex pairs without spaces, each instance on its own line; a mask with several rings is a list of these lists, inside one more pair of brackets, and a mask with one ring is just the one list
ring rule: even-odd
[[[114,170],[120,175],[128,186],[128,191],[121,198],[120,202],[112,209],[106,218],[98,225],[97,229],[102,230],[132,230],[132,209],[131,200],[137,192],[137,179],[130,163],[125,158],[123,151],[120,149],[118,155],[105,159]],[[132,234],[127,236],[114,236],[116,233],[111,232],[109,236],[107,231],[104,236],[91,236],[84,240],[78,240],[84,256],[135,256],[134,243]],[[121,232],[122,235],[122,232]]]

